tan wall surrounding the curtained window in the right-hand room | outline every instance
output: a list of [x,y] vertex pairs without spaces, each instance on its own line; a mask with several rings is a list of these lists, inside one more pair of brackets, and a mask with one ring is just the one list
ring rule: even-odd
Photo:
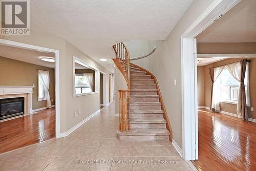
[[[204,87],[204,97],[198,96],[198,101],[202,102],[204,101],[204,105],[198,106],[206,106],[210,108],[210,93],[211,93],[211,80],[209,76],[209,68],[219,67],[223,65],[227,65],[232,62],[237,62],[241,58],[228,58],[225,60],[221,60],[215,63],[211,63],[209,65],[200,67],[203,68],[203,74],[204,74],[204,81],[198,81],[198,87]],[[251,62],[249,63],[249,91],[250,91],[250,106],[254,107],[256,106],[256,79],[254,78],[254,73],[256,73],[256,58],[251,58]],[[200,70],[198,72],[198,77],[202,77],[202,71]],[[203,86],[204,84],[204,86]],[[200,91],[198,91],[200,93]],[[237,114],[237,105],[236,104],[230,104],[230,103],[224,103],[220,102],[220,109],[221,111],[229,112],[232,114]],[[249,117],[256,119],[256,114],[254,114],[252,111],[250,111],[250,108],[248,107]]]

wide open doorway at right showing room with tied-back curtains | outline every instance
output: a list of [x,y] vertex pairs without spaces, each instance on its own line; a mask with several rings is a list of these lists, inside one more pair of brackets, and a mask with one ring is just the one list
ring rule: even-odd
[[196,37],[199,170],[256,167],[254,8],[241,1]]

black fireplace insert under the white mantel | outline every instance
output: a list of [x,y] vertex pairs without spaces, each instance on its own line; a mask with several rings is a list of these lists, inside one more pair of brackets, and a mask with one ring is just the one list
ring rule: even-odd
[[24,115],[24,97],[0,99],[0,120]]

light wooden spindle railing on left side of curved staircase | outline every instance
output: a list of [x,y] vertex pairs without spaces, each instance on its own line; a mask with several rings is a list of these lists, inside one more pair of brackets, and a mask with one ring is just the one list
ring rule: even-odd
[[127,90],[119,90],[119,131],[129,131],[131,123],[130,114],[130,55],[126,46],[120,42],[113,45],[113,49],[116,53],[116,59],[113,59],[118,69],[123,74],[126,83]]

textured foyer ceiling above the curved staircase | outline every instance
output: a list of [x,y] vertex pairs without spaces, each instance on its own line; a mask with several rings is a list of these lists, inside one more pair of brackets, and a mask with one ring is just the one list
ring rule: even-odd
[[[115,55],[112,45],[131,39],[166,39],[192,2],[30,1],[30,27],[34,32],[66,39],[100,65],[113,71],[111,58]],[[99,61],[100,58],[108,59],[111,65]]]

